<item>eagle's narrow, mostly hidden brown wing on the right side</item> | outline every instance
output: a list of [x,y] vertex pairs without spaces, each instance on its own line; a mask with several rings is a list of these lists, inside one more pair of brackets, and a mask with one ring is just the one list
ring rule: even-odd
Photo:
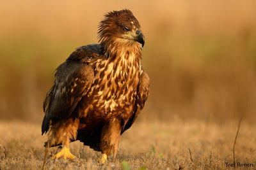
[[136,94],[136,102],[134,105],[134,110],[131,118],[125,124],[124,129],[122,129],[121,134],[131,127],[131,125],[134,123],[134,121],[138,117],[140,111],[143,109],[148,98],[149,85],[150,85],[150,81],[149,81],[148,74],[142,69],[142,73],[140,74],[140,80],[136,90],[137,94]]

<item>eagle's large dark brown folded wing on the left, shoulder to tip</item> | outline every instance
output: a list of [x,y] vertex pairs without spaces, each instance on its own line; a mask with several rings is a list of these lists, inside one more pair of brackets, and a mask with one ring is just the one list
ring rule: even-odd
[[98,49],[93,49],[95,46],[77,48],[56,69],[54,85],[47,92],[44,101],[45,117],[42,123],[42,134],[48,131],[50,120],[54,123],[54,120],[71,115],[77,103],[91,88],[94,72],[88,62],[99,56]]

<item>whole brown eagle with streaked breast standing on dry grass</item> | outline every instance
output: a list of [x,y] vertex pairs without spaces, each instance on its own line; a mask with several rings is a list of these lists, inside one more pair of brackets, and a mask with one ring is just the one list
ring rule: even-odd
[[[57,67],[44,100],[45,147],[62,145],[54,158],[74,159],[68,144],[81,141],[115,159],[120,136],[134,123],[149,94],[141,66],[145,37],[130,10],[110,11],[98,27],[99,44],[76,48]],[[48,132],[48,133],[47,133]]]

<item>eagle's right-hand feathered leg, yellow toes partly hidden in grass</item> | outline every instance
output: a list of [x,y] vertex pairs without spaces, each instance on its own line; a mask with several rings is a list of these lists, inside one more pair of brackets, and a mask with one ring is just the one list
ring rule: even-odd
[[115,159],[118,150],[118,144],[121,134],[121,122],[118,118],[113,118],[102,127],[100,136],[100,150],[102,159],[100,162],[104,164],[110,153],[113,154]]

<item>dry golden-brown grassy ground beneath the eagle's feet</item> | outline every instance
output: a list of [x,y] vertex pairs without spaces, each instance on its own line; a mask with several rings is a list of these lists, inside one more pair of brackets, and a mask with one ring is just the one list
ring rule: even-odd
[[[99,152],[78,141],[70,145],[75,160],[52,160],[47,169],[231,169],[237,121],[225,124],[175,120],[140,120],[122,135],[116,159],[100,165]],[[241,122],[236,161],[256,169],[256,125]],[[0,121],[0,169],[42,169],[44,142],[40,124]],[[191,151],[191,157],[189,155]],[[6,152],[5,152],[6,150]],[[51,148],[49,155],[56,153]],[[192,160],[191,160],[192,159]],[[55,161],[55,162],[54,162]]]

